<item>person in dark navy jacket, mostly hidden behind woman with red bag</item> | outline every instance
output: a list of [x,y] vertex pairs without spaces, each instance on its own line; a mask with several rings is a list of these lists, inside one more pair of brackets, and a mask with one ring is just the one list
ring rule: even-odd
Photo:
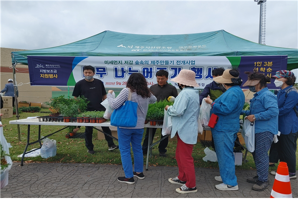
[[[224,73],[224,68],[216,68],[214,70],[212,70],[212,77],[218,77],[218,76],[222,76]],[[215,81],[212,81],[210,84],[206,85],[204,88],[204,91],[201,93],[200,95],[200,105],[202,104],[202,100],[204,98],[207,98],[208,95],[210,96],[210,99],[215,101],[217,98],[219,98],[224,92],[226,91],[226,89],[224,88],[224,86],[220,83],[217,83]]]

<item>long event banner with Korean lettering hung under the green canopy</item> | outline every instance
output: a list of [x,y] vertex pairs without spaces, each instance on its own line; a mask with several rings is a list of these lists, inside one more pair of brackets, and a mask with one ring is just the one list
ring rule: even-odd
[[[158,70],[169,72],[168,83],[172,82],[182,69],[196,73],[197,89],[204,89],[213,81],[212,70],[237,68],[243,83],[247,80],[245,71],[257,70],[265,76],[287,69],[287,55],[278,56],[27,56],[32,86],[74,86],[84,79],[83,66],[95,68],[94,78],[100,79],[106,88],[125,88],[132,73],[142,73],[148,86],[157,84]],[[273,80],[273,79],[272,79]],[[277,89],[268,83],[269,89]],[[244,87],[248,88],[248,87]]]

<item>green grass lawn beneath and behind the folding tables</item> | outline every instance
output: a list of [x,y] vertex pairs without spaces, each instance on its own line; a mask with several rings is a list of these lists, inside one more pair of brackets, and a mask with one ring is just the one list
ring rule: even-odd
[[[41,111],[48,111],[46,108],[42,108]],[[20,113],[20,119],[27,118],[29,116],[46,116],[48,113]],[[6,141],[10,143],[12,148],[9,149],[11,159],[14,161],[20,161],[21,158],[17,155],[23,153],[26,142],[27,142],[27,125],[20,125],[21,133],[21,142],[18,142],[17,136],[17,125],[9,124],[10,120],[15,120],[16,117],[13,115],[11,118],[1,119],[3,124],[3,132],[6,138]],[[41,126],[41,135],[45,136],[49,133],[53,133],[59,129],[63,128],[62,126]],[[119,150],[108,150],[107,142],[105,140],[97,139],[97,131],[93,129],[93,144],[95,154],[87,153],[85,147],[84,139],[74,138],[67,139],[65,135],[68,133],[68,129],[60,131],[52,136],[50,139],[56,140],[57,144],[57,155],[49,158],[38,157],[28,157],[24,158],[24,162],[67,162],[67,163],[100,163],[100,164],[121,164],[121,157]],[[84,127],[81,127],[79,132],[83,132]],[[146,129],[145,129],[146,131]],[[38,135],[38,126],[31,125],[30,132],[30,141],[33,142],[37,139]],[[144,133],[145,137],[145,133]],[[32,139],[31,139],[32,138]],[[157,129],[153,142],[156,142],[160,139],[160,129]],[[144,140],[144,138],[143,138]],[[115,142],[118,145],[117,142]],[[167,157],[160,157],[158,152],[158,145],[154,146],[152,149],[153,156],[149,158],[149,166],[177,166],[175,160],[175,149],[177,142],[169,141],[167,147]],[[29,146],[28,150],[38,148],[38,144]],[[204,168],[219,168],[218,162],[205,162],[203,157],[205,156],[204,147],[197,143],[194,145],[193,157],[195,167],[204,167]],[[211,147],[210,147],[211,149]],[[244,152],[244,151],[243,151]],[[133,154],[133,153],[132,153]],[[297,156],[298,153],[296,152]],[[246,159],[247,163],[243,163],[242,166],[236,166],[236,169],[253,169],[255,170],[255,164],[253,157],[250,152],[247,153]],[[144,156],[144,165],[146,165],[146,156]],[[270,167],[269,170],[276,170],[276,167]],[[296,170],[298,170],[298,163]]]

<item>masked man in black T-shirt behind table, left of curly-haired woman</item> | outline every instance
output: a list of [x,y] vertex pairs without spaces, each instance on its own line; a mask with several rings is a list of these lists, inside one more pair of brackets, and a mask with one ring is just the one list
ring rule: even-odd
[[[95,75],[94,67],[86,65],[83,67],[83,72],[85,79],[78,81],[74,86],[73,96],[74,99],[80,96],[84,96],[90,102],[87,104],[87,111],[105,111],[105,107],[100,103],[107,98],[107,92],[105,91],[103,82],[99,79],[93,78]],[[109,127],[101,127],[103,132],[112,135],[112,132]],[[92,133],[93,126],[85,127],[85,146],[88,149],[88,153],[93,154],[93,143],[92,143]],[[106,141],[108,142],[108,150],[117,149],[113,142],[113,138],[104,135]]]

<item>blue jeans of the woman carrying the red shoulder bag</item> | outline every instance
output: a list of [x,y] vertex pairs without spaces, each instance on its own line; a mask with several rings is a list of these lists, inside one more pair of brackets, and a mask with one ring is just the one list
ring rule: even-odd
[[220,132],[212,129],[212,134],[223,183],[229,186],[236,186],[238,184],[235,175],[233,150],[237,132]]

